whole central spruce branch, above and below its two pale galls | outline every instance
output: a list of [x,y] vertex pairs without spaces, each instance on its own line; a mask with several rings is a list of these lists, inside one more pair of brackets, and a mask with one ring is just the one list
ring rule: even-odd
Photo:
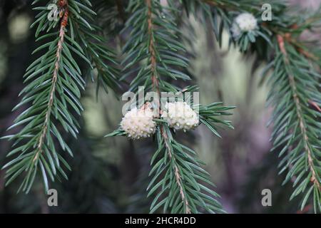
[[[190,76],[181,71],[188,67],[188,60],[180,54],[185,52],[185,48],[178,40],[180,32],[175,24],[173,2],[168,3],[168,6],[163,6],[159,1],[131,1],[127,11],[132,16],[126,21],[125,30],[129,30],[130,35],[123,47],[126,56],[123,60],[125,67],[122,79],[137,73],[131,81],[130,90],[137,93],[139,86],[145,86],[147,91],[154,91],[158,95],[151,103],[138,104],[140,111],[151,107],[156,110],[153,121],[157,123],[158,150],[151,160],[149,175],[152,179],[147,189],[148,197],[156,197],[151,203],[150,212],[158,212],[161,208],[163,212],[171,213],[224,212],[215,199],[219,197],[218,194],[203,184],[213,187],[208,172],[201,167],[203,162],[198,160],[193,150],[175,140],[173,130],[162,117],[162,104],[168,102],[167,98],[162,98],[163,92],[174,94],[197,90],[197,86],[180,89],[170,83],[177,79],[190,80]],[[190,105],[191,108],[200,109],[202,123],[217,135],[217,124],[230,126],[228,121],[215,118],[215,115],[229,115],[223,110],[234,107],[218,108],[221,103]],[[134,119],[131,121],[130,123],[136,122]],[[128,133],[120,127],[106,136],[116,135]]]

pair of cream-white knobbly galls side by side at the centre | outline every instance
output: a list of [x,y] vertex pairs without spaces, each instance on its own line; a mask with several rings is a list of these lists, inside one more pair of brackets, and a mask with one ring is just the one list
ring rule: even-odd
[[[191,130],[199,125],[198,113],[188,103],[177,101],[166,103],[161,118],[174,130]],[[132,139],[148,138],[156,131],[156,115],[149,105],[133,108],[121,120],[121,128]]]

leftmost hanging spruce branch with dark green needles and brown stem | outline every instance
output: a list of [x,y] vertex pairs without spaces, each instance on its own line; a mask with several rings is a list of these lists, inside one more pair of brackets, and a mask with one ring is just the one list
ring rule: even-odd
[[[63,12],[58,33],[45,34],[38,38],[38,40],[56,35],[58,35],[58,38],[54,38],[53,41],[45,43],[34,51],[35,53],[49,47],[48,51],[41,58],[34,61],[34,63],[31,63],[31,66],[27,69],[24,77],[26,77],[25,82],[29,82],[29,85],[21,91],[21,94],[24,93],[25,95],[21,103],[16,105],[16,108],[26,103],[31,103],[31,107],[16,118],[15,124],[11,128],[26,123],[27,125],[16,135],[6,136],[9,140],[15,140],[14,150],[9,152],[8,156],[16,155],[20,152],[20,155],[16,156],[16,158],[3,167],[9,168],[6,170],[6,185],[9,185],[22,172],[25,172],[26,176],[19,190],[26,192],[29,192],[31,189],[37,170],[41,171],[45,190],[47,191],[49,188],[47,175],[54,181],[54,176],[57,175],[56,170],[58,170],[63,177],[66,177],[60,162],[70,169],[66,161],[63,160],[61,155],[58,155],[55,149],[53,136],[58,139],[63,150],[67,150],[72,155],[68,145],[66,145],[66,142],[63,141],[61,134],[58,132],[56,120],[63,125],[67,132],[73,135],[76,135],[78,132],[76,127],[78,123],[71,117],[70,113],[65,111],[67,103],[74,110],[78,110],[78,112],[81,109],[81,105],[77,103],[80,90],[66,73],[66,71],[76,71],[66,59],[69,58],[71,62],[74,61],[66,43],[69,5],[67,1],[59,1],[58,6],[61,8],[61,12]],[[49,31],[51,28],[54,28],[53,25],[56,22],[51,21],[50,23],[46,21],[44,9],[36,9],[42,10],[38,14],[41,21],[37,20],[39,21],[37,31],[44,31],[46,28]],[[37,33],[36,36],[38,36]],[[30,82],[31,79],[34,81]],[[25,141],[26,139],[29,139],[29,141]]]

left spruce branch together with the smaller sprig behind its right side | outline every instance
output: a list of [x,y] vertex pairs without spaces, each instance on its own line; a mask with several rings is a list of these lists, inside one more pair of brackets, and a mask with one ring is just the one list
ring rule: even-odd
[[44,189],[48,190],[49,181],[54,182],[61,177],[67,179],[65,169],[71,170],[59,154],[57,142],[62,150],[73,156],[61,131],[65,130],[75,138],[78,134],[76,115],[83,110],[79,99],[81,90],[85,88],[79,61],[84,61],[91,68],[92,65],[99,68],[98,85],[113,88],[116,85],[116,71],[106,65],[108,62],[101,62],[115,63],[114,55],[98,43],[103,42],[103,38],[94,33],[91,22],[96,13],[91,10],[89,1],[70,0],[66,5],[58,4],[62,15],[58,21],[47,18],[47,6],[34,9],[40,12],[31,27],[36,26],[36,41],[43,43],[34,53],[42,56],[27,68],[24,82],[28,85],[21,91],[24,96],[14,108],[30,106],[9,128],[19,127],[19,132],[4,137],[14,141],[14,148],[8,154],[13,158],[3,167],[6,168],[6,185],[24,175],[19,187],[19,191],[24,192],[30,191],[38,172]]

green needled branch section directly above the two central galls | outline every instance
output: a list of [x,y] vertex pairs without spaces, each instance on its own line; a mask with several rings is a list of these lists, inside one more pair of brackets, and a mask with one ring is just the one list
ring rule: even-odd
[[[173,8],[161,6],[158,1],[151,1],[151,4],[152,27],[148,27],[149,11],[145,1],[131,1],[128,5],[131,17],[126,21],[126,28],[131,29],[131,32],[123,46],[126,58],[122,64],[126,73],[121,79],[136,73],[129,89],[136,92],[138,86],[144,86],[145,90],[153,89],[153,77],[156,77],[161,91],[176,92],[178,88],[165,80],[190,80],[188,75],[176,70],[188,66],[187,59],[180,55],[180,52],[185,52],[185,48],[178,41],[178,27],[170,14]],[[141,62],[142,66],[138,65]]]

